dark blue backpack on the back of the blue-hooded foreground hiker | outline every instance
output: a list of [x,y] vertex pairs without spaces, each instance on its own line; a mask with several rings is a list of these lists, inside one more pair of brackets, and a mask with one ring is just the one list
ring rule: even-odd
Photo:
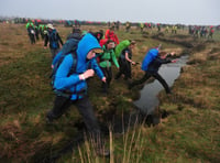
[[52,69],[52,75],[51,75],[51,78],[52,78],[51,84],[52,84],[54,90],[55,90],[54,80],[55,80],[56,72],[57,72],[59,65],[62,64],[62,62],[64,61],[64,58],[66,57],[66,55],[69,54],[69,53],[72,53],[72,56],[74,58],[74,63],[73,63],[72,68],[70,68],[67,76],[70,76],[72,74],[74,74],[76,72],[76,67],[77,67],[76,50],[77,50],[77,46],[78,46],[78,42],[79,42],[79,40],[77,40],[77,39],[67,40],[66,43],[63,45],[63,48],[55,56],[55,58],[53,61],[54,67]]

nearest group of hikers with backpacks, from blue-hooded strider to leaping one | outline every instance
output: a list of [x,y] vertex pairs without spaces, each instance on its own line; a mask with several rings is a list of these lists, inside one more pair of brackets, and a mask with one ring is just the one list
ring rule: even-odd
[[[36,33],[33,23],[26,24],[31,44],[35,43],[33,34]],[[132,78],[132,65],[139,63],[132,59],[133,50],[136,42],[133,40],[120,41],[110,26],[106,32],[86,32],[79,28],[73,28],[72,33],[63,43],[58,31],[53,24],[37,28],[44,40],[44,47],[50,44],[52,53],[52,86],[56,94],[53,108],[46,113],[46,121],[52,123],[58,119],[66,109],[75,105],[82,116],[84,122],[90,137],[96,142],[96,151],[100,155],[109,155],[105,149],[105,142],[100,127],[94,112],[92,105],[87,96],[87,82],[95,73],[100,78],[101,91],[108,96],[112,78],[118,79],[123,76],[127,87],[132,89],[134,86],[145,83],[150,77],[157,79],[167,94],[172,94],[170,88],[163,77],[158,74],[162,64],[175,63],[176,59],[167,58],[174,55],[161,51],[161,45],[152,47],[145,53],[141,69],[145,73],[141,79]],[[130,30],[128,22],[127,32]],[[143,25],[142,25],[143,30]],[[118,73],[112,74],[112,65]]]

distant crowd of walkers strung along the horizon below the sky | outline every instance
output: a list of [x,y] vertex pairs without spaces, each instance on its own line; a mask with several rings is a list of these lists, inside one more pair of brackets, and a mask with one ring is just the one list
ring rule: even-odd
[[[68,21],[66,21],[68,22]],[[114,30],[119,30],[121,26],[121,23],[119,21],[117,22],[108,22],[107,23],[109,29]],[[66,24],[65,24],[66,25]],[[80,23],[79,21],[75,21],[74,22],[74,26],[76,26],[77,29],[80,29]],[[141,33],[143,33],[145,30],[147,32],[151,32],[154,28],[157,29],[157,32],[165,32],[165,33],[172,33],[172,34],[177,34],[177,30],[178,29],[184,29],[184,25],[180,24],[176,24],[176,25],[169,25],[169,24],[153,24],[153,23],[131,23],[129,21],[127,21],[124,23],[124,29],[125,32],[130,32],[131,31],[131,26],[136,26],[138,29],[141,30]],[[164,29],[164,30],[162,30]],[[219,28],[218,28],[219,29]],[[26,30],[28,30],[28,35],[30,37],[30,42],[31,44],[35,44],[36,41],[40,40],[40,35],[42,40],[45,40],[45,37],[48,39],[48,34],[50,34],[50,28],[46,24],[40,24],[40,23],[33,23],[33,21],[28,21],[26,23]],[[198,25],[189,25],[188,26],[188,33],[190,35],[193,35],[194,37],[204,37],[204,39],[212,39],[213,33],[215,33],[215,28],[213,26],[198,26]],[[103,34],[103,31],[99,31],[99,33]],[[103,35],[100,35],[101,37]],[[100,37],[100,39],[101,39]],[[116,42],[116,41],[114,41]]]

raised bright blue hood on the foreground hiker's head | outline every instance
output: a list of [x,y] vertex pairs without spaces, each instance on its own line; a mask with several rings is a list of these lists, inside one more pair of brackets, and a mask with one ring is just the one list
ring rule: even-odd
[[99,45],[97,39],[94,35],[87,33],[78,43],[78,47],[76,51],[78,59],[80,62],[86,62],[87,54],[94,48],[101,50],[101,46]]

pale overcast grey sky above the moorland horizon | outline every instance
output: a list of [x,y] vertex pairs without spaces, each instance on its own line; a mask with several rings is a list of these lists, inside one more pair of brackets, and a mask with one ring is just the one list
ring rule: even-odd
[[220,0],[0,0],[0,15],[220,24]]

